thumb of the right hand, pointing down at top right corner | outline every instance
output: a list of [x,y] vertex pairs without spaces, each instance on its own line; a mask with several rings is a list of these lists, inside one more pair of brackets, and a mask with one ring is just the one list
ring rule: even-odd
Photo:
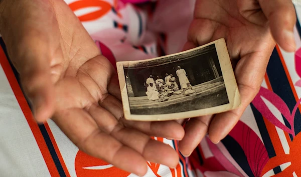
[[258,2],[269,21],[275,41],[287,52],[294,52],[296,45],[293,27],[296,23],[296,15],[291,0],[258,0]]

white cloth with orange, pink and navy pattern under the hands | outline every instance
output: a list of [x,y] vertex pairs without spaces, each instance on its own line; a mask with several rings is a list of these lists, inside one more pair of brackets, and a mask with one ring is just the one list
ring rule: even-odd
[[[157,1],[143,9],[131,3],[147,0],[65,1],[112,64],[180,52],[194,9],[194,0]],[[301,8],[296,13],[301,18]],[[225,139],[213,144],[204,138],[189,158],[179,153],[175,169],[148,163],[145,176],[301,176],[298,22],[294,36],[300,50],[274,49],[258,95]],[[135,176],[79,151],[52,120],[35,123],[2,40],[0,44],[0,176]],[[176,141],[154,138],[178,151]]]

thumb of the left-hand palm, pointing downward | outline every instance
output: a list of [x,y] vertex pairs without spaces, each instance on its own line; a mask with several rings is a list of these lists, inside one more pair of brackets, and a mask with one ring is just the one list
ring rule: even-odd
[[[37,46],[30,45],[33,42],[40,46],[39,52],[35,51]],[[28,44],[28,47],[25,48],[28,52],[14,58],[13,61],[20,73],[25,94],[32,103],[34,117],[37,122],[43,123],[48,118],[51,118],[55,108],[55,93],[50,74],[50,60],[49,56],[40,55],[41,51],[45,51],[41,47],[43,42],[39,43],[37,40],[31,40],[25,41],[24,44]]]

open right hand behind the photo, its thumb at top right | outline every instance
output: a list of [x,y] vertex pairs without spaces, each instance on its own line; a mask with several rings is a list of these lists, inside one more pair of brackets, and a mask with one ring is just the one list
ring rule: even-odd
[[190,119],[179,143],[184,155],[190,155],[206,133],[217,143],[230,132],[259,91],[275,41],[288,52],[295,50],[294,24],[291,0],[197,0],[184,50],[225,38],[241,106]]

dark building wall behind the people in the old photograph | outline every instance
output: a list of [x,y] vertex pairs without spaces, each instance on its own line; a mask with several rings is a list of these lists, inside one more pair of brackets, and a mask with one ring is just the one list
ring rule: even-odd
[[165,79],[166,73],[173,74],[180,86],[179,78],[176,74],[178,66],[185,69],[192,86],[222,76],[216,50],[190,59],[161,64],[155,67],[128,68],[125,70],[125,73],[127,73],[126,82],[128,96],[146,96],[145,92],[147,85],[145,82],[150,74],[154,76],[155,81],[157,76]]

